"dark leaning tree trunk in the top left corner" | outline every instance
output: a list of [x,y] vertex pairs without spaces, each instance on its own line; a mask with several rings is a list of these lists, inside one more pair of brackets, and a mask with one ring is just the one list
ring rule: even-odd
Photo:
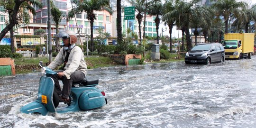
[[14,9],[13,9],[13,12],[10,15],[11,19],[9,19],[9,24],[1,31],[1,33],[0,33],[0,41],[2,40],[2,38],[6,35],[6,33],[8,33],[8,31],[12,27],[14,27],[16,24],[18,24],[17,13],[18,13],[18,10],[19,10],[19,6],[20,6],[20,4],[22,2],[24,2],[24,0],[22,0],[22,1],[15,0],[15,6],[14,6]]

